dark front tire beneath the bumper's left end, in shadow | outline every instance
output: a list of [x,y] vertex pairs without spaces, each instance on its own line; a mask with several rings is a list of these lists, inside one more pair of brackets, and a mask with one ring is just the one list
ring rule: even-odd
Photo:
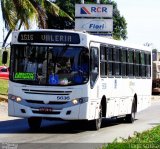
[[28,118],[28,125],[31,130],[37,130],[41,127],[42,118],[30,117]]

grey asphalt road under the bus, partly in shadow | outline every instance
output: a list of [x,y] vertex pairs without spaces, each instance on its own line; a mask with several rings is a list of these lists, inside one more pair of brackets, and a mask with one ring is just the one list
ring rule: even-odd
[[128,138],[135,132],[142,132],[159,124],[160,100],[153,100],[148,109],[136,115],[134,124],[105,119],[102,128],[99,131],[93,131],[88,130],[88,127],[82,122],[77,124],[44,120],[40,130],[31,132],[26,119],[8,117],[7,104],[0,102],[0,143],[3,143],[3,146],[6,145],[5,143],[9,145],[18,143],[19,146],[23,146],[22,148],[29,148],[30,145],[35,145],[34,148],[36,146],[37,148],[53,148],[54,146],[57,149],[97,148],[101,144],[112,142],[115,139]]

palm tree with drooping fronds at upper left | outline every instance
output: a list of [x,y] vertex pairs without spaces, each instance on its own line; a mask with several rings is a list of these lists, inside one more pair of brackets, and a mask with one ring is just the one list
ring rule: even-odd
[[15,29],[19,30],[22,25],[29,29],[30,24],[36,20],[39,28],[47,28],[46,12],[72,20],[68,14],[48,0],[1,0],[1,7],[5,27],[8,30],[2,47],[5,46],[11,32]]

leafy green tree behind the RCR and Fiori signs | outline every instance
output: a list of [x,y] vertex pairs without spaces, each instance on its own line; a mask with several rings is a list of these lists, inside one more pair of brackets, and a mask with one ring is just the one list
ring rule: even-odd
[[[66,13],[68,13],[73,19],[75,18],[75,4],[81,3],[81,0],[56,0],[56,4],[63,9]],[[85,0],[85,3],[96,3],[95,0]],[[120,15],[120,11],[117,8],[117,3],[111,0],[101,0],[102,4],[111,4],[113,5],[113,38],[120,40],[126,40],[127,39],[127,23],[123,16]],[[59,24],[64,23],[65,18],[59,22]],[[52,22],[50,26],[54,27],[54,22]],[[68,23],[69,24],[69,23]],[[74,28],[74,23],[70,23],[71,26],[67,27],[64,26],[64,28]],[[61,25],[59,25],[61,26]],[[63,27],[62,26],[62,27]]]

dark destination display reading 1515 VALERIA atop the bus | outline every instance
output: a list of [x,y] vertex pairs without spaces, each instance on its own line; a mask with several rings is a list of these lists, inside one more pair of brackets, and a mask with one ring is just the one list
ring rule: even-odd
[[49,31],[20,32],[18,42],[79,44],[80,37],[77,33]]

